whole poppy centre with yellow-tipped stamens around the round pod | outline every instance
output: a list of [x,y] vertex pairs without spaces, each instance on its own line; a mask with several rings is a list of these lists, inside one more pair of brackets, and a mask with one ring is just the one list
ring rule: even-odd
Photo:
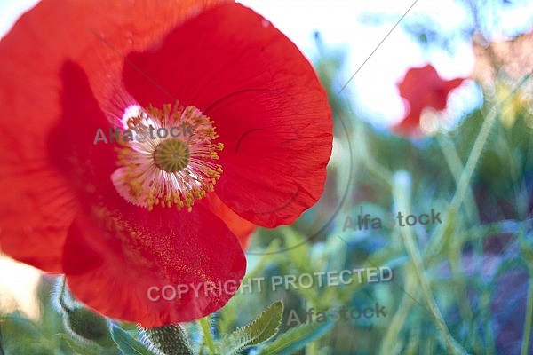
[[111,176],[116,191],[148,210],[191,211],[222,173],[216,161],[224,145],[212,143],[219,138],[213,123],[195,106],[139,108],[119,139],[119,167]]

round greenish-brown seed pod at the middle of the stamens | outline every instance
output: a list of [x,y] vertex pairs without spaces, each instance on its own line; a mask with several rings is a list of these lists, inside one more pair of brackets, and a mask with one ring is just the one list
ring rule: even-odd
[[187,166],[190,157],[191,154],[187,144],[176,138],[163,140],[155,148],[154,152],[155,165],[167,172],[183,170]]

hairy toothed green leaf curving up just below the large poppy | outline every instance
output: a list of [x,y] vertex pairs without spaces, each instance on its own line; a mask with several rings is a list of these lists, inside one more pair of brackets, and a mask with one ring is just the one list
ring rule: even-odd
[[227,335],[219,343],[219,353],[236,354],[252,345],[264,343],[277,334],[282,324],[283,303],[274,302],[258,319],[246,327],[240,327],[231,335]]

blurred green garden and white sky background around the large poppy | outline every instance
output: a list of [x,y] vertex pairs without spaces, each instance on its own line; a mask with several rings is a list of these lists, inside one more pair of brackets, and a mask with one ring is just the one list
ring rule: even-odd
[[[0,0],[0,33],[35,3]],[[241,3],[314,64],[335,138],[321,201],[294,225],[254,235],[247,277],[264,277],[267,285],[237,294],[212,315],[214,336],[282,299],[280,334],[290,334],[292,345],[274,351],[277,335],[243,353],[533,353],[533,3]],[[442,224],[345,225],[362,213],[431,209],[441,212]],[[334,287],[268,285],[277,275],[374,266],[390,267],[393,279],[368,282],[363,274],[362,283]],[[0,256],[6,354],[76,353],[76,343],[84,344],[52,306],[54,283]],[[292,310],[304,319],[310,307],[376,302],[386,306],[386,318],[303,325],[299,333],[287,326]],[[202,344],[198,327],[186,329]]]

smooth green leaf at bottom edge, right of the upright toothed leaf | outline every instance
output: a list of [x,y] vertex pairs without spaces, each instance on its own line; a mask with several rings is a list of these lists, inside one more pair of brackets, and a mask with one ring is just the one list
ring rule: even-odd
[[330,330],[330,327],[333,327],[333,323],[331,322],[317,323],[313,327],[310,327],[309,324],[300,324],[299,326],[291,327],[286,333],[278,336],[274,342],[264,345],[259,354],[290,354],[298,351],[306,346],[307,343],[311,343],[314,339],[324,335]]

